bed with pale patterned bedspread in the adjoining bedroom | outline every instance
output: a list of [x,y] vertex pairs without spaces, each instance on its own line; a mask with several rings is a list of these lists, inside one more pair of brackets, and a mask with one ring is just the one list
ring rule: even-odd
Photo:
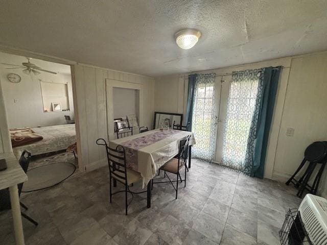
[[[16,129],[14,129],[16,130]],[[75,124],[55,125],[48,127],[32,128],[34,134],[32,138],[38,137],[38,141],[19,145],[13,148],[13,153],[17,158],[24,150],[31,152],[33,156],[65,150],[76,142]],[[12,130],[11,130],[12,132]],[[33,134],[33,132],[31,132]]]

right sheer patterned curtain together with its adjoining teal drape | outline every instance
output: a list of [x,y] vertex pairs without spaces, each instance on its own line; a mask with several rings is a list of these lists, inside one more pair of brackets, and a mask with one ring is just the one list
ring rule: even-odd
[[222,164],[263,178],[281,66],[233,72]]

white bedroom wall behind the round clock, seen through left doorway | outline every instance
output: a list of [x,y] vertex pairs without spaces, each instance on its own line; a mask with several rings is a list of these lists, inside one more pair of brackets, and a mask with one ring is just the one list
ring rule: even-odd
[[[0,53],[0,63],[21,64],[27,62],[24,56],[16,56]],[[42,60],[32,60],[32,63],[43,68]],[[58,64],[53,63],[51,70],[57,71]],[[62,66],[61,64],[59,66]],[[65,124],[64,115],[74,118],[72,79],[70,74],[49,74],[41,72],[38,76],[31,77],[22,72],[22,69],[6,69],[6,65],[0,65],[0,80],[3,88],[4,102],[6,105],[9,128],[37,127]],[[67,67],[69,70],[69,66]],[[7,79],[9,73],[18,74],[20,83],[11,83]],[[40,80],[50,83],[67,84],[68,101],[70,111],[44,112]],[[57,101],[54,101],[57,102]]]

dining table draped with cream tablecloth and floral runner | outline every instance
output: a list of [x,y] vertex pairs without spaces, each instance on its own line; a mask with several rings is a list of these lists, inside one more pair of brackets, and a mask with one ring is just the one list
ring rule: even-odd
[[174,129],[154,129],[124,138],[109,140],[110,148],[122,145],[126,154],[126,166],[142,176],[142,188],[147,186],[147,207],[151,207],[152,180],[157,170],[175,157],[179,142],[188,136],[189,168],[191,167],[192,145],[195,145],[193,132]]

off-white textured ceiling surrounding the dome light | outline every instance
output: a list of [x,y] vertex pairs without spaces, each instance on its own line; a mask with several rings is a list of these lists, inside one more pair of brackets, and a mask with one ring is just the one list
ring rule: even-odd
[[[202,37],[181,50],[174,34]],[[0,43],[161,76],[327,50],[326,0],[2,1]]]

